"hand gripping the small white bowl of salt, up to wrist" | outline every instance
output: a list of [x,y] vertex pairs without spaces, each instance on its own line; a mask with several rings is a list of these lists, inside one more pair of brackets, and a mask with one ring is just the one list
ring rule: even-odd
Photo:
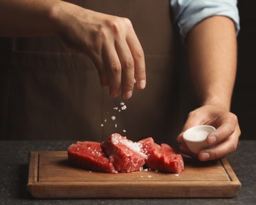
[[[188,128],[198,125],[210,125],[217,128],[212,131],[206,138],[210,148],[201,150],[198,156],[188,150],[188,147],[183,141],[182,134]],[[237,144],[241,130],[237,121],[237,116],[217,106],[202,106],[192,111],[188,115],[188,119],[183,126],[181,134],[177,141],[181,143],[181,152],[192,157],[198,157],[201,161],[218,159],[228,153],[232,153],[237,149]]]

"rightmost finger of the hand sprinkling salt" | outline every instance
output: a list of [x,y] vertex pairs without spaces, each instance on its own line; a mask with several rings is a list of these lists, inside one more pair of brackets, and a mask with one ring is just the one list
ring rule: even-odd
[[132,27],[127,35],[127,44],[131,50],[131,55],[134,57],[136,86],[138,89],[144,89],[146,86],[145,57],[140,41]]

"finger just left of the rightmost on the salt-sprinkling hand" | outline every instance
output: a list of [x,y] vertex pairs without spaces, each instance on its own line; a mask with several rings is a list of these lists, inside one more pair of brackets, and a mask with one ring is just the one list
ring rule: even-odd
[[117,41],[116,51],[122,65],[122,98],[129,99],[134,90],[134,59],[127,42],[122,39]]

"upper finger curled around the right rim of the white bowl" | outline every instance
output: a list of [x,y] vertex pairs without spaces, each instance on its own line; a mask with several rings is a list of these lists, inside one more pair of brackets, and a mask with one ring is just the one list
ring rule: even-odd
[[232,117],[223,119],[221,126],[208,135],[206,138],[207,143],[209,145],[219,144],[221,141],[235,132],[236,126],[237,121],[235,121],[235,119]]

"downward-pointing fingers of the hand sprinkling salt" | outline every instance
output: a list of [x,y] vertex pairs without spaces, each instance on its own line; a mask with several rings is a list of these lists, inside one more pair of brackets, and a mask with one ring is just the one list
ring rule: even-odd
[[129,99],[133,93],[135,79],[138,88],[145,88],[145,58],[131,21],[123,20],[122,23],[125,22],[128,31],[116,29],[116,39],[105,42],[103,46],[102,53],[108,80],[103,69],[98,69],[98,72],[102,85],[109,84],[111,97],[117,97],[121,91],[122,98]]

